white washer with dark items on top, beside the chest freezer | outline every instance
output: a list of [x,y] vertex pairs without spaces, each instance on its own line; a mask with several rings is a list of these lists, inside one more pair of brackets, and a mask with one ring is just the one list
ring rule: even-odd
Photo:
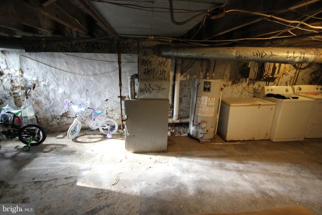
[[273,142],[303,140],[314,100],[294,95],[291,86],[266,86],[261,94],[276,102],[269,139]]

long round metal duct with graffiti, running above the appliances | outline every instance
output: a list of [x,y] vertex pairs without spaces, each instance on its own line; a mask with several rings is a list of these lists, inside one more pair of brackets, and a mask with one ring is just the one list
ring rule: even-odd
[[184,45],[157,45],[157,55],[163,57],[228,59],[276,63],[321,63],[321,48],[274,47],[204,47]]

